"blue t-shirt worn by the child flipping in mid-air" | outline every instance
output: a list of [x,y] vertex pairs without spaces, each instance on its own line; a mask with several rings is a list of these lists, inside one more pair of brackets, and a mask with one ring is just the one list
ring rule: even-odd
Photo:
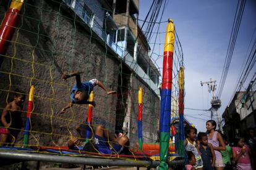
[[70,92],[72,102],[78,102],[75,99],[75,91],[88,92],[88,95],[93,91],[93,84],[90,81],[83,81],[81,84],[75,84]]

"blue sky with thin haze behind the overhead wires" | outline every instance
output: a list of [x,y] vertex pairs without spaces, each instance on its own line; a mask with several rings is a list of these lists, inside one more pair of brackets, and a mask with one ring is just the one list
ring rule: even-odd
[[[140,0],[140,20],[145,20],[145,15],[151,2],[152,0]],[[200,81],[210,81],[210,78],[216,80],[218,91],[237,2],[237,0],[169,0],[166,5],[162,21],[166,21],[168,18],[174,20],[184,54],[186,108],[207,110],[211,107],[212,94],[208,93],[206,85],[200,85]],[[139,23],[142,25],[141,22]],[[161,23],[159,32],[166,31],[166,24],[166,22]],[[247,0],[228,76],[221,94],[221,115],[226,106],[229,105],[229,100],[234,97],[233,92],[241,72],[242,63],[248,55],[247,51],[253,35],[255,38],[255,28],[256,1]],[[164,36],[160,36],[156,42],[164,43]],[[156,46],[155,51],[160,54],[163,49],[160,46]],[[162,60],[157,60],[157,65],[163,67],[161,62]],[[255,71],[256,68],[254,66],[249,79],[252,78],[252,74]],[[245,83],[244,88],[247,85]],[[244,89],[242,88],[242,90]],[[209,111],[186,109],[184,114],[191,123],[195,124],[198,131],[206,131],[205,123],[207,119],[210,119]]]

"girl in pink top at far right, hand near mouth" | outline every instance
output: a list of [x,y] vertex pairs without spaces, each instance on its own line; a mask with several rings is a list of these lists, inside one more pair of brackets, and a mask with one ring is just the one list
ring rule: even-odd
[[236,162],[237,170],[252,170],[250,164],[250,149],[244,144],[244,138],[239,137],[235,140],[236,147],[232,147],[233,161]]

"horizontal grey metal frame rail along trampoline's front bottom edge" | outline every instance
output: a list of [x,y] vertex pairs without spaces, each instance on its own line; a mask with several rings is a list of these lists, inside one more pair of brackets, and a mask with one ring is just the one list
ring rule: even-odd
[[[90,156],[90,157],[89,157]],[[72,163],[72,164],[87,164],[87,165],[101,165],[101,166],[136,166],[136,167],[156,167],[160,164],[160,161],[140,161],[126,158],[121,160],[118,158],[98,158],[88,155],[82,156],[63,156],[63,155],[51,155],[46,153],[22,153],[14,151],[0,151],[0,158],[16,159],[24,161],[45,161],[53,163]],[[184,160],[171,161],[169,166],[182,165]]]

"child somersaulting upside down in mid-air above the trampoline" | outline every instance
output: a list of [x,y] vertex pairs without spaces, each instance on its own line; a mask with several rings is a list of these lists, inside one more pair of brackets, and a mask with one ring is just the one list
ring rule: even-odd
[[95,107],[95,102],[89,102],[88,99],[90,97],[90,93],[93,91],[93,87],[96,85],[100,86],[101,89],[105,90],[107,94],[114,94],[116,91],[110,91],[101,81],[97,79],[91,79],[90,81],[81,82],[79,71],[75,71],[70,75],[64,74],[61,76],[62,80],[75,76],[76,84],[72,87],[70,92],[71,103],[69,103],[66,107],[62,108],[61,113],[64,113],[67,108],[72,107],[73,103],[77,104],[92,104]]

